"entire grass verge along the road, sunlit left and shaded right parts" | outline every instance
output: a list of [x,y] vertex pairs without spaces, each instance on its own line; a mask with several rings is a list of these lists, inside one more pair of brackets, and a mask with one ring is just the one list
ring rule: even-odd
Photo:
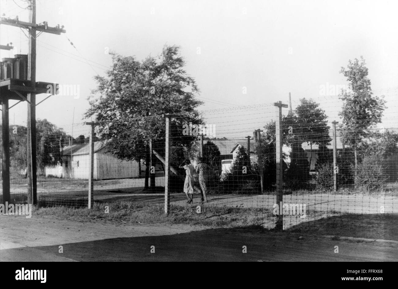
[[[106,212],[108,206],[109,212]],[[242,208],[228,206],[201,205],[201,213],[195,206],[170,206],[170,214],[164,214],[163,205],[137,203],[133,201],[116,201],[94,203],[92,209],[71,208],[64,206],[40,208],[33,214],[53,216],[79,222],[103,222],[117,225],[132,224],[187,224],[211,228],[272,228],[275,216],[267,209]],[[308,211],[309,219],[285,217],[285,223],[295,222],[285,233],[310,235],[329,235],[356,237],[366,239],[385,239],[398,241],[398,214],[341,214],[338,211]],[[290,219],[288,218],[290,217]],[[298,223],[297,223],[298,220]],[[272,231],[272,229],[270,230]]]

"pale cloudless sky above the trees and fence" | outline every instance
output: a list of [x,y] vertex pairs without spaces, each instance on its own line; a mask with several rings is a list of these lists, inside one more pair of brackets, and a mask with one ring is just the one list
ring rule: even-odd
[[[28,21],[27,3],[14,1],[0,0],[2,17]],[[36,116],[70,133],[72,122],[85,121],[94,76],[105,76],[111,66],[107,51],[142,60],[167,44],[181,46],[185,69],[205,102],[199,111],[209,122],[224,113],[240,124],[255,111],[251,125],[261,127],[275,118],[272,103],[289,103],[289,92],[293,109],[300,98],[311,97],[330,122],[338,120],[338,97],[323,95],[321,88],[347,85],[341,66],[363,56],[374,94],[387,101],[382,126],[398,127],[397,8],[397,1],[386,0],[37,0],[37,23],[64,25],[66,33],[37,38],[36,80],[73,85],[79,95],[51,96]],[[0,58],[27,54],[27,32],[0,26],[0,43],[14,46],[1,50]],[[37,103],[45,97],[37,95]],[[250,108],[247,113],[242,106]],[[12,108],[10,124],[26,125],[26,111],[25,102]],[[248,127],[239,134],[246,132]]]

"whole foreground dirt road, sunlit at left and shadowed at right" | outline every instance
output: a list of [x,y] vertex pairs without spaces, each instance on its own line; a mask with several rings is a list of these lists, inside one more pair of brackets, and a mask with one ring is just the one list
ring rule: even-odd
[[[397,261],[398,242],[0,215],[0,261]],[[59,253],[63,246],[63,253]],[[151,253],[155,246],[155,253]],[[247,253],[242,252],[247,247]],[[335,246],[339,252],[335,253]]]

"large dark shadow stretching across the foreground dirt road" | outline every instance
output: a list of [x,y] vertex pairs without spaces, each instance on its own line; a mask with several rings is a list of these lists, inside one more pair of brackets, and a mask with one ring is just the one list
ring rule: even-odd
[[[33,248],[47,256],[53,254],[76,261],[396,261],[398,258],[397,244],[298,236],[258,228],[206,229]],[[338,254],[334,251],[336,245]],[[12,260],[13,254],[20,254],[18,250],[21,248],[2,250],[2,258]]]

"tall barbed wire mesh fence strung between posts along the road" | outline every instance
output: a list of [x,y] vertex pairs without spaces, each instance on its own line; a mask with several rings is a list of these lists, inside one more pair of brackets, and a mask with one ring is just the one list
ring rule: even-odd
[[[168,131],[163,115],[98,119],[93,135],[84,123],[64,126],[61,133],[43,128],[38,204],[87,207],[92,177],[95,206],[162,206],[167,186],[171,210],[233,208],[268,229],[278,218],[283,229],[322,232],[325,224],[341,227],[364,215],[396,213],[396,116],[386,114],[388,128],[349,131],[330,122],[339,121],[336,97],[323,99],[322,108],[316,101],[300,100],[281,115],[274,104],[174,114]],[[20,141],[12,133],[10,139]],[[23,155],[23,145],[18,148]],[[26,161],[16,157],[18,151],[12,155],[11,199],[26,201]]]

